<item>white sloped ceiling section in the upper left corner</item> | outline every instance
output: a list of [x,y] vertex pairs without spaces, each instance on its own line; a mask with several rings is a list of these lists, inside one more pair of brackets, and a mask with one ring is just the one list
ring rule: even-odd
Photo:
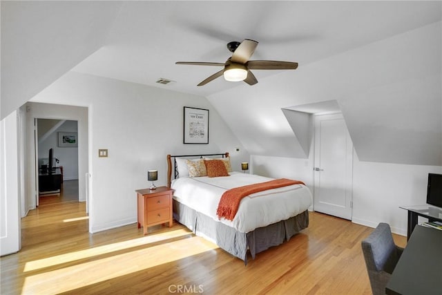
[[102,47],[119,6],[1,1],[1,119]]

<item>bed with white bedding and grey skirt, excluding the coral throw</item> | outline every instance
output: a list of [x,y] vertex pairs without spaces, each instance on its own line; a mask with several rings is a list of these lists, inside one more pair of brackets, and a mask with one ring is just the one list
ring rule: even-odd
[[[198,175],[198,171],[195,174],[193,163],[204,160],[222,160],[229,177]],[[256,254],[282,244],[309,225],[307,209],[312,197],[303,184],[260,191],[243,198],[233,220],[217,216],[224,191],[273,180],[232,171],[229,153],[167,155],[167,166],[168,186],[175,190],[173,218],[195,235],[244,260],[246,265],[247,252],[254,259]]]

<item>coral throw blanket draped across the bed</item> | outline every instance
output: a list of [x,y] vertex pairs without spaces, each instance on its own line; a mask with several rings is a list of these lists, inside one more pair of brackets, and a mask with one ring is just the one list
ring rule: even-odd
[[[221,196],[220,203],[216,214],[219,218],[226,218],[233,220],[235,218],[238,207],[242,198],[251,195],[252,193],[258,193],[259,191],[266,191],[267,189],[276,189],[278,187],[287,187],[293,184],[304,184],[302,181],[289,180],[287,178],[280,178],[276,180],[270,180],[267,182],[260,182],[256,184],[245,185],[244,187],[236,187],[224,191]],[[305,184],[304,184],[305,185]]]

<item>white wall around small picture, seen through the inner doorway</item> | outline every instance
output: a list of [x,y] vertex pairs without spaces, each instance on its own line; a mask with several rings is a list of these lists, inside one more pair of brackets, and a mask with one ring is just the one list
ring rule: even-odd
[[[39,120],[40,121],[40,120]],[[77,132],[77,121],[66,120],[61,126],[53,131],[48,137],[39,142],[39,159],[48,158],[49,149],[54,149],[54,158],[63,166],[63,179],[76,180],[78,179],[78,147],[72,146],[58,146],[59,132]],[[40,130],[39,130],[40,133]],[[55,165],[55,163],[54,163]],[[81,175],[83,178],[84,175]]]

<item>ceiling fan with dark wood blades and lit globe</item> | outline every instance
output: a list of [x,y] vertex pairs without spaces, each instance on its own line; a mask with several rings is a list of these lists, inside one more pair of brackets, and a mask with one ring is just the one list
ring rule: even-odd
[[224,68],[210,77],[204,79],[198,86],[203,86],[214,79],[224,75],[224,79],[231,82],[244,81],[249,85],[258,83],[255,75],[250,70],[295,70],[297,62],[249,60],[258,46],[258,41],[244,39],[242,42],[232,41],[227,44],[232,56],[226,62],[200,62],[200,61],[177,61],[175,64],[190,64],[194,66],[223,66]]

